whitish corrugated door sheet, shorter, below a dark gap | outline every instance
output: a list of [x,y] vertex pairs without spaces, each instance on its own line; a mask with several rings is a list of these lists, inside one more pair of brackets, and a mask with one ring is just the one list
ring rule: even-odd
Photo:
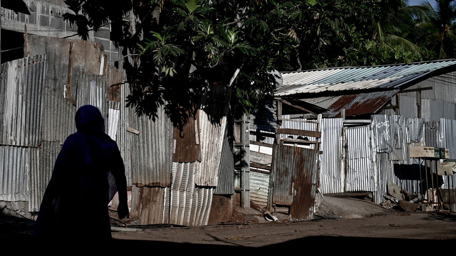
[[373,191],[370,127],[346,128],[345,136],[347,140],[345,191]]

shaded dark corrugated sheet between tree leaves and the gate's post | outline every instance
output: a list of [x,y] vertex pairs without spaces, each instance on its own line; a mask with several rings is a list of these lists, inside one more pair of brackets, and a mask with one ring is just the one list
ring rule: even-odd
[[[258,111],[250,113],[250,129],[260,129],[277,133],[277,106],[275,101],[268,101],[264,108],[260,107]],[[257,117],[258,116],[258,117]]]

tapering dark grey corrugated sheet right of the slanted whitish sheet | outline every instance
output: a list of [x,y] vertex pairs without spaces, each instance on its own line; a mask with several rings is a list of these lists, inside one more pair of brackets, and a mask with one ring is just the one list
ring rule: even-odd
[[214,189],[214,195],[234,194],[234,155],[230,138],[223,139],[220,167],[218,168],[218,183]]

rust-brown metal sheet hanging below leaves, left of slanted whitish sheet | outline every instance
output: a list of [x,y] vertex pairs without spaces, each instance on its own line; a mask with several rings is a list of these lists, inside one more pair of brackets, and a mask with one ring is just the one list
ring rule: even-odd
[[177,124],[174,127],[173,137],[176,140],[176,151],[173,156],[173,162],[192,163],[201,161],[200,153],[200,134],[199,128],[195,125],[199,123],[199,110],[196,115],[187,110],[188,121],[185,124]]

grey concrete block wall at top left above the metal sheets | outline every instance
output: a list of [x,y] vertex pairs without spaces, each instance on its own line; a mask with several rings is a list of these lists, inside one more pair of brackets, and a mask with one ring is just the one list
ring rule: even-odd
[[[27,33],[81,39],[76,35],[77,26],[70,26],[68,21],[63,20],[63,14],[74,13],[63,0],[24,0],[30,8],[30,15],[15,13],[13,10],[1,8],[1,28],[24,32],[24,25],[27,25]],[[99,28],[97,32],[89,31],[88,41],[100,42],[104,46],[107,55],[107,63],[114,65],[119,59],[119,47],[117,43],[110,40],[111,24]]]

